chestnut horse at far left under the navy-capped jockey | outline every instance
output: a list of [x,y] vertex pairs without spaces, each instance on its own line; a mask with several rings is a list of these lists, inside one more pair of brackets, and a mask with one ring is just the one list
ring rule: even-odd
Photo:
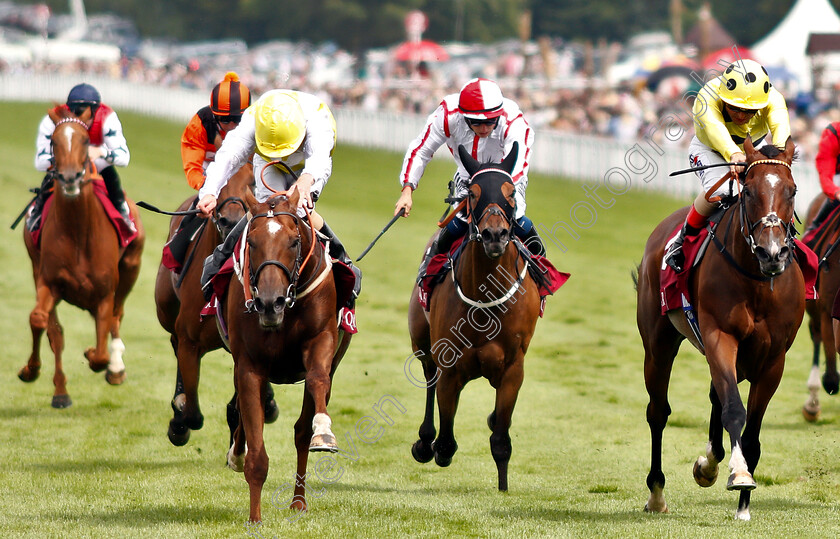
[[110,384],[125,380],[120,323],[126,296],[140,272],[145,242],[132,201],[126,199],[137,235],[123,248],[115,225],[97,198],[93,180],[98,174],[88,157],[90,136],[84,123],[90,120],[89,114],[86,111],[78,118],[69,110],[50,111],[56,124],[52,135],[55,189],[51,208],[42,217],[38,244],[29,230],[23,233],[37,299],[29,315],[32,353],[18,377],[24,382],[38,378],[41,336],[46,330],[55,355],[54,408],[72,404],[62,368],[64,334],[56,312],[62,300],[89,311],[96,322],[96,345],[85,352],[90,368],[94,372],[107,369],[105,379]]

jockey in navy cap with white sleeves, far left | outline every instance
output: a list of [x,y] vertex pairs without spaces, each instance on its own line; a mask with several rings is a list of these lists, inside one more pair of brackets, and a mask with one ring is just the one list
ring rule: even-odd
[[[86,121],[90,135],[88,153],[96,166],[96,170],[105,180],[108,198],[120,212],[129,228],[134,229],[128,204],[125,202],[125,193],[123,193],[120,177],[115,168],[128,166],[128,161],[131,158],[117,113],[111,107],[102,103],[102,98],[96,88],[86,83],[74,86],[67,95],[67,103],[56,107],[56,109],[60,108],[70,109],[73,114],[79,117],[90,109],[89,119]],[[48,171],[52,168],[51,143],[54,130],[55,124],[49,115],[44,116],[38,126],[38,137],[35,141],[35,168],[37,170]],[[47,174],[41,183],[32,211],[26,220],[26,226],[29,230],[37,228],[41,220],[41,211],[44,208],[44,202],[47,200],[52,183],[50,174]]]

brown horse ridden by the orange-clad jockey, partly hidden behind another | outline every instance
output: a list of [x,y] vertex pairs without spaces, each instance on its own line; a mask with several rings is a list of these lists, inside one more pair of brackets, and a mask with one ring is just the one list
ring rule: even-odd
[[[250,163],[234,174],[219,193],[219,204],[213,212],[212,226],[206,222],[193,234],[186,251],[186,261],[180,273],[174,273],[161,261],[155,281],[155,303],[161,326],[170,333],[170,342],[178,360],[175,394],[172,398],[173,417],[167,435],[173,445],[182,446],[190,439],[190,431],[200,429],[204,416],[198,401],[198,379],[201,358],[225,346],[216,319],[201,316],[207,303],[201,290],[200,279],[204,259],[213,252],[245,216],[244,196],[253,191],[254,176]],[[195,196],[185,200],[178,208],[188,210]],[[169,225],[171,240],[183,220],[175,215]],[[270,386],[269,386],[270,390]],[[267,421],[277,418],[273,394],[267,405]]]

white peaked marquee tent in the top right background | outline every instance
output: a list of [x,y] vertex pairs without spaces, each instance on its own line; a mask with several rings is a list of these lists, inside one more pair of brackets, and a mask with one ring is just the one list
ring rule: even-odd
[[840,32],[840,15],[828,0],[797,0],[785,18],[751,47],[755,59],[796,75],[800,90],[811,90],[811,62],[805,55],[812,33]]

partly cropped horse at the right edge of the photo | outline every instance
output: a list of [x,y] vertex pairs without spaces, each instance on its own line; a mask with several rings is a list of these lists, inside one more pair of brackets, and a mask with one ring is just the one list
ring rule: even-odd
[[[825,195],[820,193],[811,201],[806,223],[813,221],[825,200]],[[820,416],[820,346],[825,354],[822,387],[829,395],[836,395],[840,388],[840,376],[837,374],[837,348],[831,319],[831,307],[837,290],[840,289],[840,248],[838,248],[840,247],[840,212],[833,214],[831,220],[824,221],[823,225],[822,232],[809,242],[810,247],[820,258],[820,267],[817,278],[818,298],[805,302],[808,330],[814,346],[811,374],[808,377],[809,395],[802,406],[802,415],[808,421],[816,421]]]

